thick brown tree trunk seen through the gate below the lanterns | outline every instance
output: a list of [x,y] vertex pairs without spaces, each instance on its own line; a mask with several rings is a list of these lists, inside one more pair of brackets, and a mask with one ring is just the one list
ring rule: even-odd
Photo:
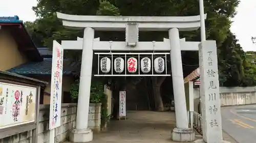
[[155,110],[164,111],[163,100],[161,96],[161,85],[166,77],[152,77],[153,93],[155,98]]

